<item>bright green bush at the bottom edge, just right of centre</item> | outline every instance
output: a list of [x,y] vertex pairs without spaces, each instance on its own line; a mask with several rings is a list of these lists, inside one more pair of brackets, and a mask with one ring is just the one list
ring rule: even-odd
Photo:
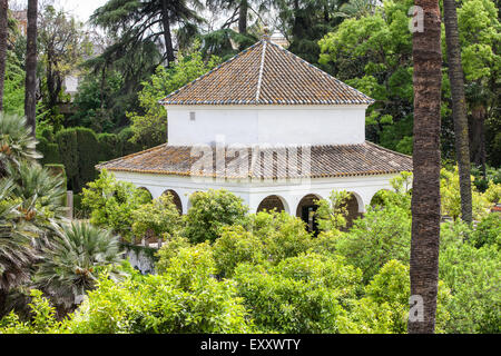
[[285,277],[262,265],[240,264],[235,270],[238,295],[256,327],[265,333],[340,333],[347,328],[340,291],[317,278]]

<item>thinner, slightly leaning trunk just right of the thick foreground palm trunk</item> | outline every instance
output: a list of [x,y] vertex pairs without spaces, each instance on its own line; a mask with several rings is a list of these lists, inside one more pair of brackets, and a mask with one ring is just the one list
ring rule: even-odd
[[452,119],[454,121],[455,134],[455,155],[458,158],[460,178],[461,217],[464,221],[471,224],[473,217],[470,178],[470,142],[455,0],[443,0],[443,18],[445,22],[445,42],[448,44],[449,78],[451,80]]

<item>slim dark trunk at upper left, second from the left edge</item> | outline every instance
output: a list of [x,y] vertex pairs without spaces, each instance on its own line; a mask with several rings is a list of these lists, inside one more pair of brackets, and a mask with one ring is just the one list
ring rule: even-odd
[[38,0],[28,0],[24,115],[27,125],[31,127],[31,134],[33,136],[37,126],[37,12]]

